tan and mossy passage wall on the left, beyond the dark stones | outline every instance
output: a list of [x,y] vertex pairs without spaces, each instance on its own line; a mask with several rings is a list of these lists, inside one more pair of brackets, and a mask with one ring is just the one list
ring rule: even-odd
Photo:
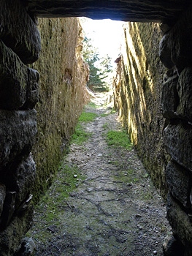
[[40,18],[42,52],[33,68],[40,73],[37,165],[34,200],[45,191],[58,170],[88,94],[88,67],[82,61],[82,35],[77,18]]

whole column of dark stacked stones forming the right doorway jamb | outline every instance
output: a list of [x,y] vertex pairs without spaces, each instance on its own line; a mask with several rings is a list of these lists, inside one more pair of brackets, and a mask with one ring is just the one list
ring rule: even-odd
[[166,31],[160,44],[160,58],[168,68],[162,90],[162,108],[166,117],[164,145],[170,155],[166,167],[167,218],[174,238],[183,244],[182,255],[185,256],[192,255],[191,23],[192,7]]

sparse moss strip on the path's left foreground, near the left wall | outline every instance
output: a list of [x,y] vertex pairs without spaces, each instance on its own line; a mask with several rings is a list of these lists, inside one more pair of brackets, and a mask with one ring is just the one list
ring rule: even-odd
[[53,233],[47,227],[61,225],[62,212],[71,207],[67,202],[67,198],[85,178],[77,165],[62,164],[58,171],[57,180],[35,208],[38,213],[38,219],[41,218],[41,222],[36,222],[37,232],[31,233],[32,230],[29,230],[27,236],[33,236],[35,240],[46,243],[53,236]]

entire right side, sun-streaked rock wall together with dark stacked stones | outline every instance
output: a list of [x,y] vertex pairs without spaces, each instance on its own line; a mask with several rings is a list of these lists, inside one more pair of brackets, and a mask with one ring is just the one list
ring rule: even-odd
[[[172,28],[161,31],[162,39],[157,24],[126,24],[114,80],[123,124],[160,192],[168,191],[167,218],[177,246],[167,243],[165,255],[192,255],[191,18],[189,7]],[[158,61],[160,39],[167,69]]]

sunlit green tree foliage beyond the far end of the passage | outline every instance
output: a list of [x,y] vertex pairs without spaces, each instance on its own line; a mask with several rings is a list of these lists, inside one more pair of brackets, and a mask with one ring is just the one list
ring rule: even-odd
[[83,40],[82,55],[90,69],[88,87],[93,91],[108,91],[107,78],[112,72],[110,56],[100,57],[98,49],[93,47],[91,38],[88,37]]

